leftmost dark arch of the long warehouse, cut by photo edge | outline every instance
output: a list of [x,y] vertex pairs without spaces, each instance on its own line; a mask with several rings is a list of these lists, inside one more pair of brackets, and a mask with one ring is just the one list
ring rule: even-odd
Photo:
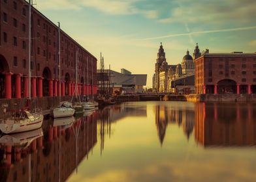
[[5,98],[5,72],[10,72],[7,60],[0,55],[0,99]]

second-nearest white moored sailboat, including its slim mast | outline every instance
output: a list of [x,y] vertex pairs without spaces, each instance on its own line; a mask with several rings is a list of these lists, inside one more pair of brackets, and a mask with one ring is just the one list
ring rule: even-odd
[[[59,25],[59,22],[58,22]],[[59,32],[59,81],[61,80],[61,57],[60,57],[60,26],[58,26]],[[61,90],[61,83],[59,82],[59,90]],[[54,118],[69,117],[74,115],[74,108],[68,101],[61,102],[61,94],[59,94],[59,106],[52,109],[52,116]]]

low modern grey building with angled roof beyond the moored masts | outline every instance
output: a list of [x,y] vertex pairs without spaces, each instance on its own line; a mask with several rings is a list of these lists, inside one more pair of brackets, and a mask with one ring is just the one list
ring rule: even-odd
[[[128,71],[129,72],[129,71]],[[99,93],[114,95],[144,93],[146,74],[123,74],[113,70],[97,70]]]

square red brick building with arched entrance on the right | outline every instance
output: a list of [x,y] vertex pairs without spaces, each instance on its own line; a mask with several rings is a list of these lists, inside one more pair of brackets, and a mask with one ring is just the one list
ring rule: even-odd
[[196,94],[255,94],[256,53],[205,53],[195,60]]

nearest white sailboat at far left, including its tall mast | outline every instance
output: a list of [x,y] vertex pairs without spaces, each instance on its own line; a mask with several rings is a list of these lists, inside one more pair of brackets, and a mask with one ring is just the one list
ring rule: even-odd
[[[29,0],[29,100],[31,100],[31,0]],[[0,129],[3,133],[20,133],[38,129],[42,126],[44,116],[38,110],[30,112],[29,110],[22,110],[21,112],[14,112],[10,118],[5,118],[0,121]]]

